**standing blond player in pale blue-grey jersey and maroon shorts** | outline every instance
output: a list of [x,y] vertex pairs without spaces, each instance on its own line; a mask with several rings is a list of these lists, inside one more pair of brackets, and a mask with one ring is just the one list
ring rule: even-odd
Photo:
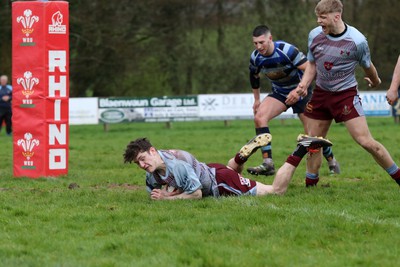
[[[400,185],[400,169],[386,148],[371,135],[358,96],[355,68],[361,65],[370,87],[381,83],[372,64],[368,42],[356,28],[342,20],[340,0],[321,0],[315,7],[319,26],[308,38],[308,66],[296,92],[307,95],[307,88],[316,78],[316,87],[308,102],[305,116],[309,118],[309,134],[326,136],[334,119],[344,122],[351,137]],[[298,97],[289,96],[288,105]],[[306,185],[319,180],[320,157],[314,154],[307,165]]]

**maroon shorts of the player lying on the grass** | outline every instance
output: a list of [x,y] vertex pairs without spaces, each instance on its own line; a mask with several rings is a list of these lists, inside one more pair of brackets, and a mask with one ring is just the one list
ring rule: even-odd
[[256,195],[256,181],[242,177],[223,164],[210,163],[207,165],[215,168],[215,179],[221,196]]

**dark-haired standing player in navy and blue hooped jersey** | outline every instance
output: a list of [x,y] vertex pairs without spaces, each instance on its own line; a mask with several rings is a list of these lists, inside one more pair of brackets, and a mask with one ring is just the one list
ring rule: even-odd
[[[271,31],[265,25],[259,25],[253,30],[253,43],[255,50],[250,58],[250,83],[254,95],[254,124],[256,134],[270,133],[268,123],[270,120],[286,111],[293,109],[303,123],[304,132],[307,133],[307,118],[304,108],[311,97],[311,86],[308,94],[301,98],[294,91],[307,67],[307,58],[295,46],[284,41],[272,40]],[[262,101],[260,100],[260,74],[264,74],[272,84],[272,93]],[[286,98],[296,98],[292,104],[285,103]],[[248,168],[247,171],[255,175],[272,175],[275,167],[272,160],[272,144],[261,148],[263,163],[257,167]],[[330,147],[325,147],[323,154],[328,161],[331,173],[340,173],[339,163],[335,159]]]

